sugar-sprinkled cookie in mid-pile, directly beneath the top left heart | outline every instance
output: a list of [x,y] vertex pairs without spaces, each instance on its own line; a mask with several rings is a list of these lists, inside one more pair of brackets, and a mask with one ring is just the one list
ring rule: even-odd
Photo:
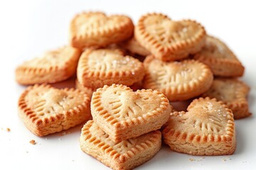
[[130,86],[142,81],[142,62],[130,56],[123,56],[119,50],[86,50],[78,62],[78,81],[84,86],[97,89],[105,84]]

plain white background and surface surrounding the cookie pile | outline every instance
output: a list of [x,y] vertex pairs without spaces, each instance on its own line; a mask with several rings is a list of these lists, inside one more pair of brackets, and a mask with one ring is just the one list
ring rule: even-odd
[[[76,13],[124,13],[134,23],[147,12],[168,14],[173,20],[191,18],[205,26],[235,52],[245,66],[250,85],[250,111],[256,113],[256,4],[253,1],[0,1],[0,169],[108,169],[80,151],[80,128],[47,137],[29,132],[17,115],[24,86],[16,84],[18,64],[68,43],[68,26]],[[255,115],[236,120],[237,149],[228,157],[193,157],[163,147],[137,169],[255,169]],[[10,128],[11,132],[6,132]],[[70,134],[68,134],[70,133]],[[36,145],[29,144],[36,140]],[[189,159],[195,159],[191,162]]]

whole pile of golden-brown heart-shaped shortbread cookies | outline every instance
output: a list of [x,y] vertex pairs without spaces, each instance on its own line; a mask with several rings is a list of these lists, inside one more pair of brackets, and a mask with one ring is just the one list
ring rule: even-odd
[[[112,169],[133,169],[161,149],[161,138],[193,155],[235,152],[235,119],[250,115],[244,67],[196,21],[149,13],[79,13],[70,45],[16,68],[29,86],[19,115],[38,136],[85,123],[82,151]],[[76,75],[76,89],[49,84]],[[187,111],[170,102],[192,101]],[[92,120],[90,120],[92,119]]]

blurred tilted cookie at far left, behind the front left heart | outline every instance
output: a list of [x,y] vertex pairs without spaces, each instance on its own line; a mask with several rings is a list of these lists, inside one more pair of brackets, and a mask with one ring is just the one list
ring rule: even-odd
[[16,81],[19,84],[55,83],[75,74],[80,50],[61,47],[51,50],[41,57],[24,62],[16,68]]

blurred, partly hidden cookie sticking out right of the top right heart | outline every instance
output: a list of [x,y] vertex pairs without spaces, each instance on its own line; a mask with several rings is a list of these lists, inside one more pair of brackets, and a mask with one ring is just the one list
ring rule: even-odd
[[241,77],[245,70],[227,45],[209,35],[206,38],[206,45],[194,58],[208,64],[215,76]]

